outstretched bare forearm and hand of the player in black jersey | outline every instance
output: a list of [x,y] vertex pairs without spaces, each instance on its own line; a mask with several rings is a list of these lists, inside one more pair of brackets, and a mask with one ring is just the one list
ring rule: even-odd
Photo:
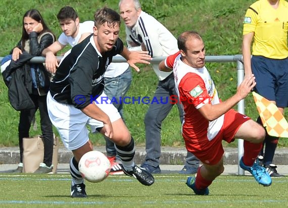
[[129,51],[126,47],[123,48],[121,53],[127,63],[135,69],[136,72],[140,72],[140,69],[135,65],[138,64],[150,64],[152,60],[151,56],[148,55],[148,51]]

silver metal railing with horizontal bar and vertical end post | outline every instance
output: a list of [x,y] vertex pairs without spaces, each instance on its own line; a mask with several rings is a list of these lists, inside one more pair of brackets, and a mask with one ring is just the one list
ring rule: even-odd
[[[57,60],[60,61],[62,57],[57,57]],[[165,57],[156,57],[151,60],[152,63],[160,63]],[[3,57],[0,57],[0,62]],[[44,57],[34,57],[30,60],[31,63],[44,63]],[[114,63],[126,62],[126,60],[122,57],[114,57]],[[237,86],[242,83],[244,79],[244,65],[243,65],[243,57],[242,55],[234,55],[234,56],[206,56],[205,62],[236,62],[237,64]],[[245,114],[245,101],[244,99],[238,102],[237,110],[241,114]],[[244,153],[243,148],[244,140],[238,139],[238,161],[240,161],[241,157]],[[244,170],[238,165],[238,175],[244,175]]]

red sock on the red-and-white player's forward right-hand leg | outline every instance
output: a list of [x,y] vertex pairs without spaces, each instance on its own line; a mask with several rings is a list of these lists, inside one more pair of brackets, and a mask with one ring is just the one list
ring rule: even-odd
[[261,148],[262,142],[255,144],[250,141],[244,141],[244,155],[243,155],[243,163],[246,166],[253,166]]

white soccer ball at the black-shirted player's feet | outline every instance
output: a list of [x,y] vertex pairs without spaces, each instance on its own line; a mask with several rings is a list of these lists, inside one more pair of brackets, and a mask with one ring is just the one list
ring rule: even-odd
[[108,177],[110,161],[100,151],[88,151],[79,161],[79,171],[87,181],[98,183]]

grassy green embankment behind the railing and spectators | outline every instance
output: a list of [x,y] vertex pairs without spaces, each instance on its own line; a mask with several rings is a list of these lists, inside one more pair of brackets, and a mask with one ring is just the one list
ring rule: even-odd
[[[146,0],[141,1],[143,11],[146,11],[163,23],[177,37],[185,30],[196,30],[202,35],[206,44],[206,54],[209,55],[236,55],[241,54],[242,21],[247,8],[254,0]],[[23,14],[35,8],[40,11],[45,22],[55,32],[61,34],[56,15],[65,5],[74,7],[81,21],[92,20],[94,11],[105,5],[118,11],[118,0],[95,0],[81,3],[80,1],[9,1],[4,0],[0,8],[1,50],[4,57],[20,40],[22,32]],[[125,40],[124,23],[121,26],[120,37]],[[61,54],[61,53],[59,53]],[[208,63],[212,78],[222,100],[227,99],[236,91],[237,72],[235,63]],[[158,80],[150,66],[141,66],[140,74],[133,74],[133,82],[127,96],[153,96]],[[252,99],[248,96],[246,114],[256,119],[258,114]],[[125,105],[125,121],[137,145],[145,145],[145,125],[143,118],[149,105]],[[11,146],[18,144],[19,112],[16,112],[7,99],[7,87],[0,81],[0,145]],[[39,115],[37,114],[37,130],[31,129],[31,135],[40,134]],[[174,107],[162,126],[162,145],[183,145],[180,134],[180,122],[177,108]],[[103,145],[105,141],[100,135],[90,136],[94,145]],[[230,144],[235,146],[236,143]],[[279,141],[279,146],[288,146],[285,139]]]

